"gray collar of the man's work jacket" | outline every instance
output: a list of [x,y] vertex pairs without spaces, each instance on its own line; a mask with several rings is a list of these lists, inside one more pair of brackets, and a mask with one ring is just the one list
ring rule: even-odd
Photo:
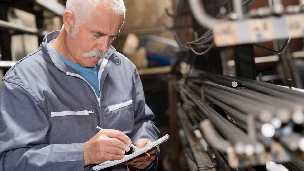
[[[56,39],[58,37],[59,33],[60,33],[60,30],[53,31],[53,32],[50,32],[47,35],[45,35],[42,43],[40,44],[40,48],[46,52],[47,56],[53,61],[54,65],[62,72],[78,73],[76,70],[71,68],[69,65],[65,64],[59,58],[57,58],[57,56],[55,54],[53,54],[53,52],[50,49],[48,49],[48,47],[47,47],[47,44],[51,40]],[[105,59],[109,60],[115,52],[116,52],[116,49],[114,47],[110,46],[108,52],[105,54]],[[112,59],[110,59],[110,60],[113,61]],[[100,67],[99,65],[101,65],[101,61],[102,61],[102,59],[100,59],[100,61],[98,61],[98,64],[97,64],[98,68]]]

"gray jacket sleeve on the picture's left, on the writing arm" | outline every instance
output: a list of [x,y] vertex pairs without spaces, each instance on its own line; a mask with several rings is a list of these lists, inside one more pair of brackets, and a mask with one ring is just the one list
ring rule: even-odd
[[0,171],[83,171],[82,144],[47,144],[49,121],[35,94],[3,80],[0,91]]

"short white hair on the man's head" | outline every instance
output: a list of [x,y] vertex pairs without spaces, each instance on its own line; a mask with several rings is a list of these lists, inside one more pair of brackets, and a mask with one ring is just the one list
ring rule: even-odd
[[[67,0],[65,11],[69,10],[75,16],[75,25],[71,31],[72,39],[76,37],[80,24],[91,18],[91,14],[98,3],[104,3],[107,9],[112,10],[117,15],[126,15],[126,7],[123,0]],[[64,25],[61,30],[64,30]]]

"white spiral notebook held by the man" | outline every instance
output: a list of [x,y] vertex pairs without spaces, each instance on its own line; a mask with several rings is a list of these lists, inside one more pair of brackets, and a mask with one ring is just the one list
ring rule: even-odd
[[160,144],[166,142],[169,138],[170,137],[167,134],[167,135],[163,136],[162,138],[159,138],[158,140],[154,141],[153,143],[147,145],[146,147],[144,147],[144,148],[142,148],[142,149],[140,149],[140,150],[138,150],[138,151],[136,151],[136,152],[134,152],[130,155],[125,155],[125,158],[123,158],[121,160],[113,160],[113,161],[108,160],[106,162],[103,162],[99,165],[94,166],[93,170],[98,171],[98,170],[101,170],[101,169],[105,169],[105,168],[108,168],[108,167],[115,166],[115,165],[118,165],[120,163],[126,162],[130,159],[133,159],[134,157],[137,157],[137,156],[149,151],[150,149],[156,147],[157,145],[160,145]]

